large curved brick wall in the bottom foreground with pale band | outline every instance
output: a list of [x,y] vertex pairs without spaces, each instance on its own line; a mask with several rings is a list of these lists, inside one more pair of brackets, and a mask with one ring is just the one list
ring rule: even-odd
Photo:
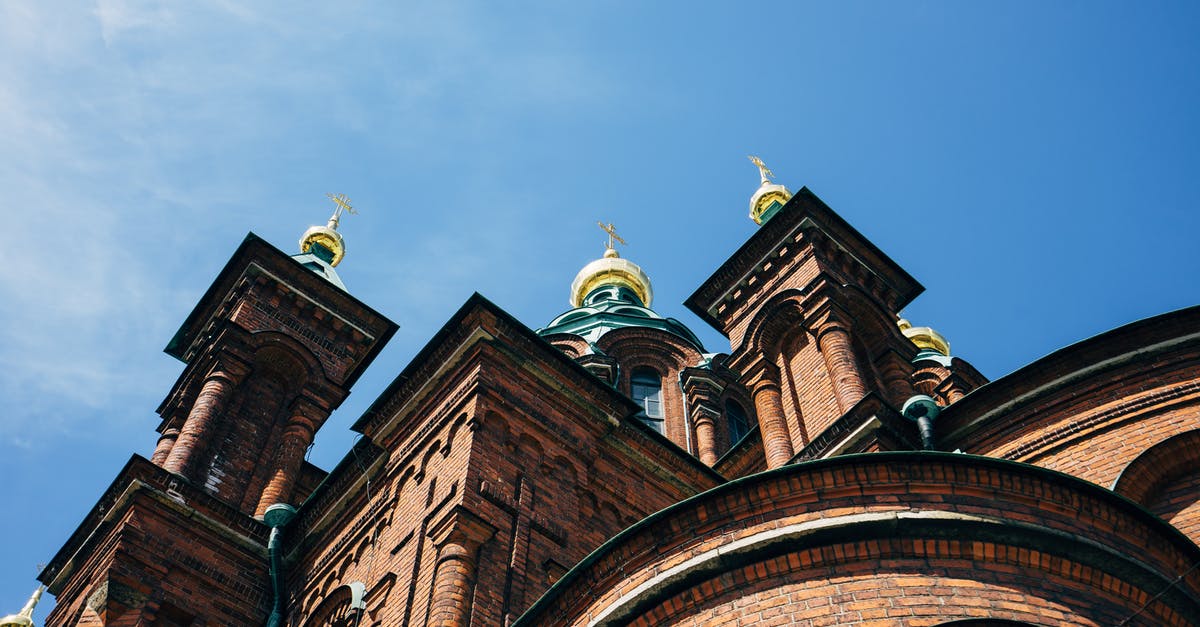
[[[1033,466],[875,453],[670,507],[518,625],[1193,625],[1200,549],[1108,490]],[[740,622],[739,622],[740,621]]]

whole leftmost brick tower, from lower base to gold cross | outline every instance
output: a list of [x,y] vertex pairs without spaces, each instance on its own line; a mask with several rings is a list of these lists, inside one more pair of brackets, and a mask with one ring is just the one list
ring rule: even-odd
[[48,625],[262,621],[263,514],[320,482],[304,459],[313,434],[396,330],[334,270],[342,209],[300,255],[247,235],[172,338],[186,368],[154,455],[130,460],[43,573]]

